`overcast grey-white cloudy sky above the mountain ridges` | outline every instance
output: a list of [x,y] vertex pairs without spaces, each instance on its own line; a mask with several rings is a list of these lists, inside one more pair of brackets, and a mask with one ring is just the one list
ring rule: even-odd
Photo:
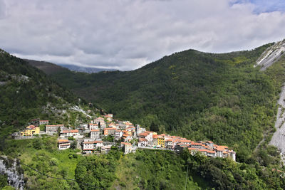
[[284,0],[0,0],[0,48],[52,63],[133,70],[197,49],[285,38]]

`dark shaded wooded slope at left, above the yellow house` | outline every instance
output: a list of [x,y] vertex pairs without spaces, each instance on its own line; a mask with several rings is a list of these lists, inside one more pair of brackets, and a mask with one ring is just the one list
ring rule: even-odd
[[19,131],[32,119],[63,120],[60,110],[78,103],[78,97],[53,82],[43,71],[1,50],[1,139]]

